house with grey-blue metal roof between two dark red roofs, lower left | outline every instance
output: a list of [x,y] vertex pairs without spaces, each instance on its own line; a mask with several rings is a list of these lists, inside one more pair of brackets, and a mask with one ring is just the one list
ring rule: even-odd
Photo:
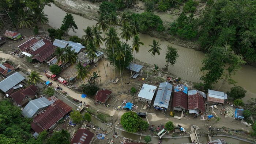
[[22,115],[24,117],[31,118],[35,114],[39,113],[42,109],[46,108],[47,106],[51,105],[52,102],[47,100],[47,98],[37,98],[35,100],[29,101],[29,103],[25,106],[22,110]]

